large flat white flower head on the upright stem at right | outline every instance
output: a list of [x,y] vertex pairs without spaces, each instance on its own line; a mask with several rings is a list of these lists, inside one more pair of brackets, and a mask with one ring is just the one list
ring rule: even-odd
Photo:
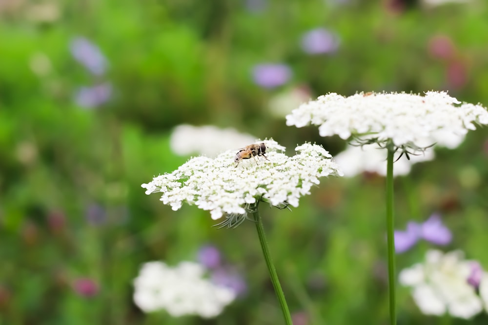
[[360,93],[349,97],[334,93],[320,96],[286,116],[287,125],[318,125],[321,136],[351,135],[360,142],[393,141],[414,151],[434,143],[456,147],[475,124],[488,124],[487,109],[460,104],[446,92],[425,96],[406,93]]

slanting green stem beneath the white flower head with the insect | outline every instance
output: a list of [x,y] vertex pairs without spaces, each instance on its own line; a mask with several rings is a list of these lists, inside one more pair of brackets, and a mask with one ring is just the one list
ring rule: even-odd
[[281,310],[283,312],[283,317],[285,317],[286,325],[293,325],[291,321],[290,311],[288,310],[288,305],[286,305],[285,294],[280,285],[280,280],[278,280],[278,274],[271,261],[271,255],[269,254],[268,243],[266,241],[266,236],[264,235],[263,221],[261,215],[259,214],[258,205],[254,207],[252,211],[254,221],[256,222],[256,230],[258,230],[259,242],[261,243],[261,249],[263,250],[264,260],[266,261],[266,266],[268,267],[269,275],[271,277],[271,282],[275,289],[276,296],[280,301]]

